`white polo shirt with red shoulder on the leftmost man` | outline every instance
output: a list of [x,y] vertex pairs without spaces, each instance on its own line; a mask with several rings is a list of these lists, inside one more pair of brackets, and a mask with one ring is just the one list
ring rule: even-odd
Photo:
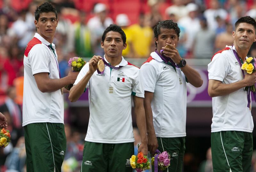
[[58,61],[55,45],[52,47],[39,34],[28,43],[24,53],[24,88],[23,88],[23,123],[64,123],[64,101],[60,90],[51,93],[42,93],[37,85],[34,75],[47,72],[49,78],[59,79]]

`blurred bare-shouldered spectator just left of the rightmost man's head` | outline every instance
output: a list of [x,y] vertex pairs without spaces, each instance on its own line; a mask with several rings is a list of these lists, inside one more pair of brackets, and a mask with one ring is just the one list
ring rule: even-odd
[[233,25],[231,23],[227,23],[226,31],[217,35],[215,41],[215,50],[219,51],[220,49],[224,49],[226,45],[232,45],[234,42],[234,38],[232,36]]

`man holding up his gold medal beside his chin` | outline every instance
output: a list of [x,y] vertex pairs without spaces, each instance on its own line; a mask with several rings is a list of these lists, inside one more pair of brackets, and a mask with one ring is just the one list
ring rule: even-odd
[[[74,102],[84,89],[89,88],[90,120],[85,137],[82,172],[132,171],[132,97],[141,135],[138,152],[148,153],[143,84],[139,68],[122,57],[125,42],[126,36],[120,26],[108,26],[101,42],[105,55],[93,56],[85,64],[69,93],[69,100]],[[96,71],[100,59],[105,64],[103,72]]]

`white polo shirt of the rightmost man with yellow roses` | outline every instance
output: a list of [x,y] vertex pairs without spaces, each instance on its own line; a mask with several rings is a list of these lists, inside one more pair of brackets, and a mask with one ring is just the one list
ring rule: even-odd
[[[221,81],[223,84],[231,84],[244,79],[232,46],[229,46],[229,48],[217,53],[212,62],[208,64],[209,79]],[[233,49],[235,49],[235,46],[233,46]],[[252,114],[247,107],[247,103],[247,93],[244,88],[228,95],[213,97],[212,132],[252,132]]]

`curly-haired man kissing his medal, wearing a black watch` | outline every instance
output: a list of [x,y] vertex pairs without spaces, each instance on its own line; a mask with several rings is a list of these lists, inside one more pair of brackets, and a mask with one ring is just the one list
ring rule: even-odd
[[[185,151],[187,86],[200,87],[200,74],[186,65],[176,46],[180,28],[172,20],[154,28],[156,51],[140,68],[144,80],[144,106],[147,120],[148,150],[171,154],[171,172],[181,172]],[[165,46],[169,48],[165,48]],[[177,64],[177,65],[176,65]]]

